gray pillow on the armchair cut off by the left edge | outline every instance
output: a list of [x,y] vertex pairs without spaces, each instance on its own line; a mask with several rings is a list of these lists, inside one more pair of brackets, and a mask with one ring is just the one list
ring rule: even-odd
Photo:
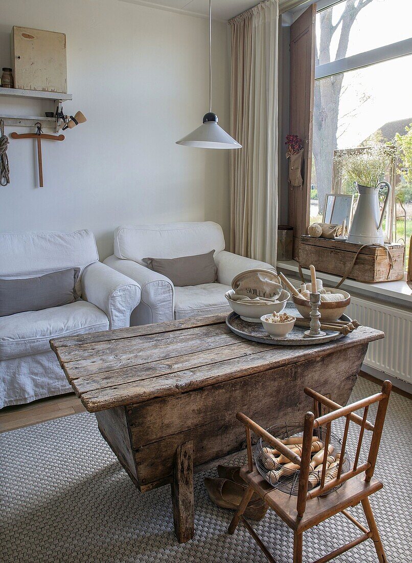
[[69,268],[37,278],[0,279],[0,316],[74,303],[79,274],[80,268]]

